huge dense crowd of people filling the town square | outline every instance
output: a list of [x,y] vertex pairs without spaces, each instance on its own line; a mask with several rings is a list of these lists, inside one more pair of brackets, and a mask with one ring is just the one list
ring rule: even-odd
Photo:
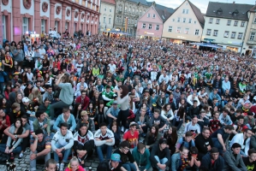
[[97,170],[256,170],[252,57],[64,35],[3,44],[0,155],[29,147],[31,171],[81,171],[93,154]]

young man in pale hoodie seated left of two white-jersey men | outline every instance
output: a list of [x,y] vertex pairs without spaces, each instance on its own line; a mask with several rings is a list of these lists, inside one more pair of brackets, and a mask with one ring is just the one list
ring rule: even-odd
[[[51,150],[53,150],[54,160],[57,162],[57,170],[63,170],[64,165],[68,163],[68,156],[74,145],[74,137],[68,130],[67,123],[61,123],[60,130],[55,133],[51,140]],[[63,157],[63,161],[59,164],[59,157]]]

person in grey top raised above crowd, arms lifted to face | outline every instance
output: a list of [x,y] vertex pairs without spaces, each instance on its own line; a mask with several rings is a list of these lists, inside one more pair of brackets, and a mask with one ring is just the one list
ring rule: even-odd
[[59,95],[61,101],[51,104],[50,114],[52,120],[55,117],[55,109],[69,107],[69,105],[73,103],[74,97],[73,83],[68,79],[68,74],[62,74],[58,78],[56,85],[62,88]]

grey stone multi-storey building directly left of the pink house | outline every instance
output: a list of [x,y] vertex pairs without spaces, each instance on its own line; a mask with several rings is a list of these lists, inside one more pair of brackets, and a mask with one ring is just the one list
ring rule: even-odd
[[125,32],[125,19],[128,17],[127,32],[135,36],[137,21],[149,8],[146,0],[116,0],[114,28]]

